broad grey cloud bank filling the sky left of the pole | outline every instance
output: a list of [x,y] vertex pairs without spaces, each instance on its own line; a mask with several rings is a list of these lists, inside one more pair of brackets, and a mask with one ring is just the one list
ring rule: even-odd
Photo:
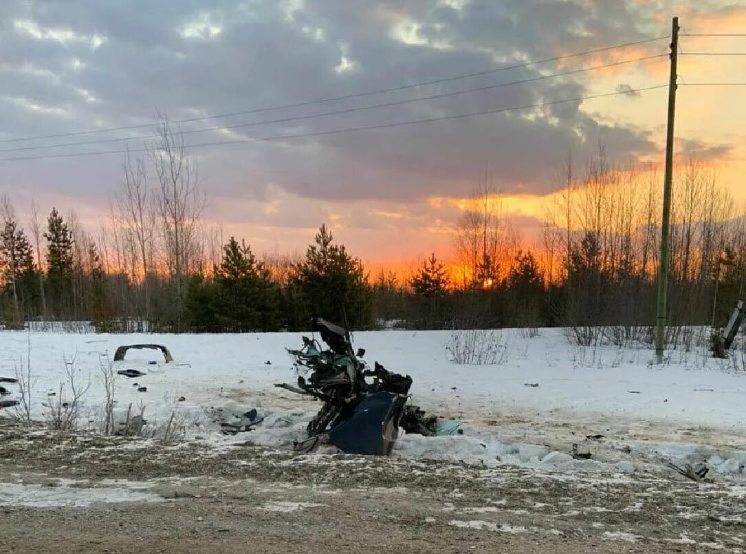
[[[424,0],[6,0],[0,7],[0,78],[5,84],[0,93],[4,122],[0,140],[147,122],[156,107],[168,111],[172,119],[181,119],[342,96],[665,32],[653,18],[665,1],[471,0],[454,7],[457,4]],[[557,65],[542,66],[545,71],[554,69]],[[257,122],[537,75],[536,68],[516,69],[421,90],[220,121]],[[238,129],[232,136],[319,133],[454,116],[576,98],[588,90],[587,76],[577,75],[383,110],[258,125]],[[189,135],[187,140],[226,138],[213,132]],[[507,192],[520,182],[521,192],[545,193],[554,166],[569,147],[582,157],[601,138],[607,151],[620,157],[653,150],[647,131],[600,122],[581,111],[579,102],[572,102],[535,111],[194,149],[192,153],[198,156],[204,187],[223,199],[261,202],[272,185],[311,199],[414,202],[431,195],[467,193],[485,164]],[[43,142],[0,143],[0,149],[14,144]],[[137,139],[130,146],[141,144]],[[0,154],[0,158],[12,155]],[[7,189],[22,183],[40,193],[63,190],[67,196],[100,202],[118,181],[120,163],[118,155],[0,161],[0,184]],[[291,217],[287,214],[286,220]]]

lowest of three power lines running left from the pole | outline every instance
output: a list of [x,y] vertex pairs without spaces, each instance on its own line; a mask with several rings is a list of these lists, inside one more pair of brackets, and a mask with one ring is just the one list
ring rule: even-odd
[[[266,142],[270,140],[289,140],[289,139],[295,139],[295,138],[307,138],[307,137],[321,137],[325,135],[331,135],[331,134],[340,134],[340,133],[347,133],[347,132],[354,132],[354,131],[369,131],[372,129],[383,129],[383,128],[394,128],[394,127],[401,127],[404,125],[417,125],[421,123],[430,123],[430,122],[436,122],[436,121],[445,121],[448,119],[463,119],[466,117],[473,117],[473,116],[482,116],[482,115],[490,115],[493,113],[504,113],[508,111],[519,111],[519,110],[527,110],[530,108],[542,108],[544,106],[550,106],[550,105],[557,105],[557,104],[565,104],[568,102],[582,102],[583,100],[589,100],[589,99],[596,99],[596,98],[604,98],[606,96],[618,96],[618,95],[630,95],[634,93],[642,93],[647,90],[655,90],[663,87],[667,87],[668,85],[665,84],[659,84],[653,87],[644,87],[639,89],[630,89],[630,90],[621,90],[621,91],[615,91],[613,93],[602,93],[602,94],[594,94],[590,96],[580,96],[577,98],[571,98],[571,99],[564,99],[564,100],[552,100],[548,102],[539,102],[536,104],[530,104],[530,105],[524,105],[524,106],[517,106],[514,108],[501,108],[498,110],[485,110],[485,111],[474,111],[469,113],[460,113],[457,115],[452,116],[439,116],[439,117],[431,117],[429,119],[413,119],[410,121],[400,121],[400,122],[393,122],[393,123],[384,123],[380,125],[363,125],[360,127],[351,127],[351,128],[342,128],[342,129],[333,129],[331,131],[316,131],[312,133],[299,133],[299,134],[286,134],[286,135],[275,135],[271,137],[258,137],[258,138],[246,138],[246,139],[239,139],[239,140],[224,140],[219,142],[212,142],[212,143],[196,143],[196,144],[189,144],[186,145],[186,148],[201,148],[204,146],[230,146],[233,144],[241,144],[241,143],[254,143],[254,142]],[[68,154],[50,154],[50,155],[41,155],[41,156],[21,156],[16,158],[3,158],[0,159],[1,161],[26,161],[26,160],[41,160],[46,158],[78,158],[82,156],[95,156],[95,155],[107,155],[107,154],[124,154],[127,152],[148,152],[148,149],[134,149],[134,150],[128,150],[128,149],[119,149],[119,150],[106,150],[103,152],[76,152],[76,153],[68,153]]]

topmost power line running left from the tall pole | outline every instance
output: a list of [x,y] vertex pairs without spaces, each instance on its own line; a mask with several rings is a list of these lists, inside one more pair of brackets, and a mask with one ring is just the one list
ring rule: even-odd
[[[452,77],[446,77],[446,78],[440,78],[440,79],[434,79],[432,81],[422,81],[420,83],[415,84],[405,84],[401,85],[399,87],[390,87],[385,89],[378,89],[378,90],[369,90],[361,93],[352,93],[347,94],[344,96],[333,96],[330,98],[323,98],[323,99],[316,99],[316,100],[306,100],[303,102],[295,102],[293,104],[286,104],[286,105],[279,105],[279,106],[272,106],[267,108],[254,108],[252,110],[246,110],[246,111],[236,111],[236,112],[229,112],[229,113],[219,113],[214,116],[199,116],[199,117],[189,117],[187,119],[175,119],[172,121],[172,123],[189,123],[189,122],[195,122],[195,121],[206,121],[208,119],[219,119],[222,117],[233,117],[233,116],[242,116],[242,115],[249,115],[251,113],[261,113],[265,111],[275,111],[275,110],[285,110],[288,108],[301,108],[302,106],[307,105],[313,105],[313,104],[322,104],[325,102],[336,102],[338,100],[347,100],[347,99],[353,99],[353,98],[360,98],[362,96],[372,96],[374,94],[383,94],[383,93],[391,93],[398,90],[407,90],[411,88],[416,87],[426,87],[431,84],[440,84],[440,83],[447,83],[451,81],[458,81],[460,79],[470,78],[470,77],[479,77],[481,75],[490,75],[493,73],[508,71],[509,69],[521,69],[523,67],[533,66],[538,63],[549,63],[552,61],[559,61],[559,60],[566,60],[571,57],[578,57],[578,56],[585,56],[590,54],[598,54],[598,52],[608,52],[609,50],[614,49],[620,49],[620,48],[626,48],[627,46],[638,46],[640,44],[646,44],[646,43],[653,43],[658,40],[663,40],[668,38],[668,36],[662,36],[662,37],[653,37],[650,39],[645,40],[636,40],[631,43],[624,43],[624,44],[618,44],[615,46],[604,46],[603,48],[597,48],[592,50],[585,50],[583,52],[574,52],[572,54],[565,54],[561,56],[555,56],[555,57],[547,57],[542,60],[535,60],[535,61],[528,61],[524,63],[517,63],[512,66],[504,66],[504,67],[498,67],[497,69],[486,69],[485,71],[480,72],[474,72],[474,73],[466,73],[463,75],[455,75]],[[33,137],[19,137],[19,138],[13,138],[13,139],[2,139],[0,140],[0,143],[13,143],[13,142],[20,142],[25,140],[40,140],[40,139],[48,139],[48,138],[60,138],[60,137],[72,137],[72,136],[78,136],[81,134],[93,134],[93,133],[107,133],[111,131],[130,131],[132,129],[140,129],[140,128],[146,128],[151,127],[154,125],[154,122],[150,123],[143,123],[140,125],[125,125],[122,127],[110,127],[110,128],[103,128],[103,129],[89,129],[84,131],[72,131],[69,133],[57,133],[57,134],[46,134],[46,135],[36,135]]]

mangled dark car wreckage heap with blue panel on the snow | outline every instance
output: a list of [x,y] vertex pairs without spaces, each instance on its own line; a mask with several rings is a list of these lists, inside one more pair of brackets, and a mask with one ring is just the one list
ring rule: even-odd
[[322,318],[312,320],[312,329],[328,348],[303,337],[301,349],[287,350],[306,377],[299,375],[297,385],[275,385],[323,402],[308,423],[308,438],[296,441],[296,449],[310,451],[328,441],[348,454],[389,455],[399,427],[426,436],[457,432],[459,422],[425,417],[419,406],[407,405],[412,378],[378,362],[370,369],[362,359],[365,350],[354,351],[346,329]]

